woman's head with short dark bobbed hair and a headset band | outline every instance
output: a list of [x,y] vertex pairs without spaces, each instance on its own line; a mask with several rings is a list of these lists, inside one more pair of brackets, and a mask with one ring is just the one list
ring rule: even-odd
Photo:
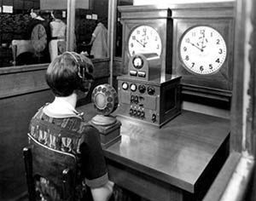
[[55,96],[72,95],[77,89],[87,92],[90,89],[93,64],[84,55],[65,52],[53,60],[46,72],[46,82]]

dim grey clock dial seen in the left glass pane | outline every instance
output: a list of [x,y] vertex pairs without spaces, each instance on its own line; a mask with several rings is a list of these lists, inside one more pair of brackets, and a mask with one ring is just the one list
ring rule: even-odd
[[44,25],[38,24],[33,27],[31,33],[32,47],[36,52],[43,52],[47,46],[47,33]]

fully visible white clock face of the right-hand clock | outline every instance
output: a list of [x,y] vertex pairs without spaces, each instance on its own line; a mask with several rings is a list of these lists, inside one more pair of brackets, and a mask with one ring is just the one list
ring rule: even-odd
[[224,38],[210,26],[195,26],[185,32],[179,46],[180,59],[189,72],[218,72],[227,55]]

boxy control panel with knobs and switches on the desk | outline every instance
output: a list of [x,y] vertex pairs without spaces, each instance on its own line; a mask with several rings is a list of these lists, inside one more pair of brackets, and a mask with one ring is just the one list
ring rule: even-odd
[[180,77],[148,82],[118,77],[119,115],[161,126],[180,113]]

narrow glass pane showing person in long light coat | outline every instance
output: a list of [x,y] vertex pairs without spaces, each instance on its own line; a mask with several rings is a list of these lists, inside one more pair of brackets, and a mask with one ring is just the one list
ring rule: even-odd
[[90,58],[108,57],[108,0],[91,1],[90,9],[76,9],[76,49]]

